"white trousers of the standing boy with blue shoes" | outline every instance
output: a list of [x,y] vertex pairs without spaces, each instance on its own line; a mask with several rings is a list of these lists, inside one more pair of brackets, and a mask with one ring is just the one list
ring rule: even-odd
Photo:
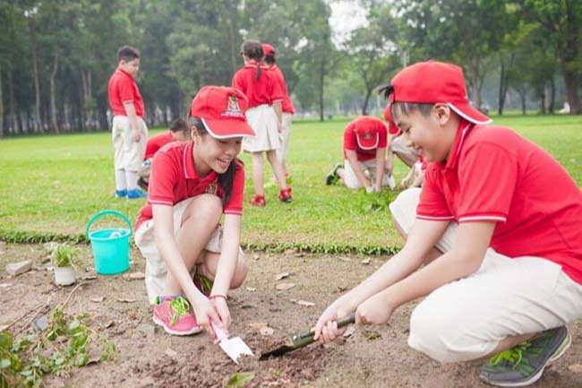
[[148,142],[148,126],[141,117],[137,118],[141,140],[133,142],[132,128],[127,116],[114,116],[111,128],[111,139],[115,151],[114,165],[116,169],[138,171],[141,168],[146,142]]

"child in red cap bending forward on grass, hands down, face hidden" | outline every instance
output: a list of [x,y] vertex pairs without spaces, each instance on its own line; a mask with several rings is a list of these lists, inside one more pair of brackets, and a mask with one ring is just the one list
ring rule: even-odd
[[341,181],[350,189],[365,187],[367,193],[393,189],[393,160],[387,159],[388,130],[379,118],[360,116],[344,130],[344,164],[338,164],[325,178],[326,185]]

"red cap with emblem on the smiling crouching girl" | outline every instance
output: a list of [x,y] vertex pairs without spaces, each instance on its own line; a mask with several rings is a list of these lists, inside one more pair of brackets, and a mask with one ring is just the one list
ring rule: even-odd
[[190,116],[200,117],[216,139],[256,136],[246,122],[249,103],[242,91],[227,86],[204,86],[192,100]]

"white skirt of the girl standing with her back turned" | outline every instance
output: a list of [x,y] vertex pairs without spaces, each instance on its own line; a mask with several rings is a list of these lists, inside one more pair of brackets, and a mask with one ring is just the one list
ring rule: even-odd
[[243,150],[261,152],[277,150],[279,147],[277,114],[270,105],[260,105],[246,111],[246,120],[251,125],[256,137],[243,138]]

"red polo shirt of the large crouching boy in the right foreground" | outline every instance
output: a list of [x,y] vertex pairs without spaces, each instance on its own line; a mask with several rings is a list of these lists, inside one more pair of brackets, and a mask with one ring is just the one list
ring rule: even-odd
[[429,163],[416,213],[497,222],[497,252],[543,257],[582,283],[582,193],[549,153],[508,128],[462,123],[448,160]]

